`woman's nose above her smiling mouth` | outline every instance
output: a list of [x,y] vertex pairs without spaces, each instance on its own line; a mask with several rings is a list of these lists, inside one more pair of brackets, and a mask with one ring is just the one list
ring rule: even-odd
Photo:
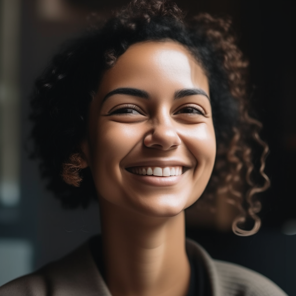
[[154,120],[152,130],[145,136],[144,145],[149,148],[171,150],[181,144],[169,115],[160,115]]

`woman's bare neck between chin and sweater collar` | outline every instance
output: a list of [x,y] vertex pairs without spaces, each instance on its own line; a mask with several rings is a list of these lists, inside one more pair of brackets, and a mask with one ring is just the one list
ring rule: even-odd
[[151,218],[101,200],[107,285],[113,296],[184,296],[190,265],[184,211]]

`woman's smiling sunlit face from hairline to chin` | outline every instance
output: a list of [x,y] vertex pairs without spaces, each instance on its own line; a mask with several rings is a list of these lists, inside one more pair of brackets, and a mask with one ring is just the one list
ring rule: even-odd
[[209,85],[188,50],[141,42],[104,74],[85,146],[99,198],[154,217],[177,215],[204,191],[216,142]]

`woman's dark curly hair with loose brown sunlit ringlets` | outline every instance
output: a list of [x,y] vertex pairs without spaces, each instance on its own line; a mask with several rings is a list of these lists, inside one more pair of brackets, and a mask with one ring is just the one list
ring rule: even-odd
[[[89,104],[99,81],[131,44],[165,40],[189,49],[209,81],[217,156],[202,199],[227,192],[228,201],[241,213],[233,222],[234,233],[253,234],[261,223],[254,194],[269,186],[264,173],[268,146],[258,135],[261,123],[248,115],[248,63],[228,19],[202,13],[186,20],[169,0],[133,0],[100,28],[65,45],[35,83],[32,155],[41,159],[48,189],[64,207],[86,207],[96,191],[89,168],[81,168],[80,144],[87,135]],[[254,145],[262,148],[259,170],[253,164]],[[258,176],[263,185],[255,184]],[[247,217],[255,221],[251,230],[243,229]]]

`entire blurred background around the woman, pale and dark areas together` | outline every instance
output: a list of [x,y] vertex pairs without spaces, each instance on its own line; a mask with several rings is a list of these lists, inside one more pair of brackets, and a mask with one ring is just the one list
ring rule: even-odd
[[[29,96],[61,44],[94,18],[128,1],[0,0],[0,285],[36,270],[100,232],[99,209],[62,210],[28,159]],[[213,258],[252,268],[296,295],[296,98],[293,1],[182,0],[194,15],[230,16],[250,60],[251,102],[270,147],[271,188],[260,196],[263,226],[251,237],[230,231],[221,203],[211,221],[188,219],[187,235]],[[294,18],[293,18],[294,17]]]

